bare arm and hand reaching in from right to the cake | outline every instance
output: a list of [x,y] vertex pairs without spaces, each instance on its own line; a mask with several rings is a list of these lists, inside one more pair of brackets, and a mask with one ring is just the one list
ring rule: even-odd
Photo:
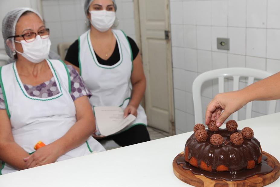
[[[234,112],[253,100],[280,99],[280,72],[259,80],[242,90],[219,93],[208,104],[205,114],[205,124],[210,120],[217,120],[220,127]],[[222,110],[224,110],[222,112]]]

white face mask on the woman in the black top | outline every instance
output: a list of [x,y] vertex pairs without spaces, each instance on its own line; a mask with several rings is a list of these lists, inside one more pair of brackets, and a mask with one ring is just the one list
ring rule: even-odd
[[107,10],[93,10],[89,11],[91,15],[91,24],[98,31],[105,32],[108,31],[114,24],[116,19],[116,13],[114,11]]

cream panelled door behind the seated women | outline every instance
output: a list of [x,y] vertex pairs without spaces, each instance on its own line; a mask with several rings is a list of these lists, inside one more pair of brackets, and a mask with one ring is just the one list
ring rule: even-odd
[[148,125],[174,134],[169,0],[139,0]]

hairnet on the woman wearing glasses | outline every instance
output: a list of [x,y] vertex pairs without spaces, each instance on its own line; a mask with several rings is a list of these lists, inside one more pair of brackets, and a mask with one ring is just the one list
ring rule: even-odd
[[[32,8],[16,8],[14,10],[11,10],[5,15],[5,17],[2,21],[2,35],[3,35],[4,43],[5,43],[5,50],[6,50],[6,53],[9,55],[9,57],[11,57],[12,59],[14,59],[13,51],[6,44],[6,40],[8,37],[15,35],[15,27],[17,25],[18,19],[26,11],[34,12],[43,21],[43,18],[41,17],[41,15]],[[14,48],[14,38],[9,38],[9,39],[11,39],[11,42],[12,42],[12,45]]]

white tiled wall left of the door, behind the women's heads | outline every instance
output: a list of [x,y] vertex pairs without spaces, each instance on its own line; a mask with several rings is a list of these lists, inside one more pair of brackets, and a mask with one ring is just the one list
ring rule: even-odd
[[[89,26],[84,13],[85,0],[42,0],[43,17],[50,28],[51,50],[57,52],[57,44],[74,42]],[[133,0],[116,0],[117,29],[135,39]]]

